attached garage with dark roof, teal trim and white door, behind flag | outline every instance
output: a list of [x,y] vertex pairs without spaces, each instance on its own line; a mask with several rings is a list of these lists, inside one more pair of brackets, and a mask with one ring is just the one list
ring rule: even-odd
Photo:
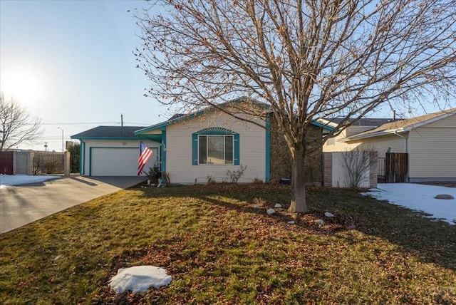
[[[86,130],[72,139],[81,141],[81,175],[135,176],[138,170],[140,138],[133,132],[142,126],[98,126]],[[154,155],[145,170],[160,160],[160,143],[145,141]]]

